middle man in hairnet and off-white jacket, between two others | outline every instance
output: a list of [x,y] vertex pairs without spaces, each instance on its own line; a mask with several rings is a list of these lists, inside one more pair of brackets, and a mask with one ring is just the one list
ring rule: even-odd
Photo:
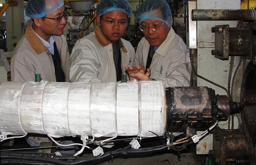
[[90,35],[77,40],[70,56],[70,81],[117,82],[132,66],[134,48],[121,38],[131,16],[126,0],[102,0],[97,6],[97,26]]

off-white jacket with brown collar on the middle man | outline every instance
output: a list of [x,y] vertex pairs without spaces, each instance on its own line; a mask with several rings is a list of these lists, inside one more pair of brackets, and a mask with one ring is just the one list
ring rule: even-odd
[[[134,65],[135,51],[131,43],[122,41],[122,74],[125,66]],[[70,81],[87,83],[116,82],[116,69],[111,42],[102,34],[99,26],[84,38],[77,40],[70,56]]]

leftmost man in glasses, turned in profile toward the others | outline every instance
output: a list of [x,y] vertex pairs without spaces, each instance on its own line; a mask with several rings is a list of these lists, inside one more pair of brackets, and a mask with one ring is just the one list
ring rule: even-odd
[[12,81],[42,80],[63,82],[68,80],[69,53],[63,29],[63,0],[29,0],[26,15],[32,20],[26,33],[17,43],[11,61]]

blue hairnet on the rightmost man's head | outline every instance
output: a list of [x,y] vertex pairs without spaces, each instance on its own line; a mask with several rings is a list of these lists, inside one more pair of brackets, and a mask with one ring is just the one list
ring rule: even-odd
[[[154,10],[160,10],[161,15],[154,13]],[[141,3],[136,12],[136,20],[139,22],[139,24],[146,19],[157,19],[163,21],[170,27],[170,22],[168,20],[171,16],[172,12],[170,7],[164,0],[146,0]]]

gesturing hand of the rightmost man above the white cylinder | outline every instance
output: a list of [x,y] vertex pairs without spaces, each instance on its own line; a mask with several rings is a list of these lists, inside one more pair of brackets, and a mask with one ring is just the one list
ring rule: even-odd
[[130,77],[130,80],[136,79],[137,81],[148,81],[150,76],[150,69],[147,68],[145,72],[145,68],[143,66],[137,66],[137,67],[127,67],[125,66],[125,69],[128,72],[128,75]]

